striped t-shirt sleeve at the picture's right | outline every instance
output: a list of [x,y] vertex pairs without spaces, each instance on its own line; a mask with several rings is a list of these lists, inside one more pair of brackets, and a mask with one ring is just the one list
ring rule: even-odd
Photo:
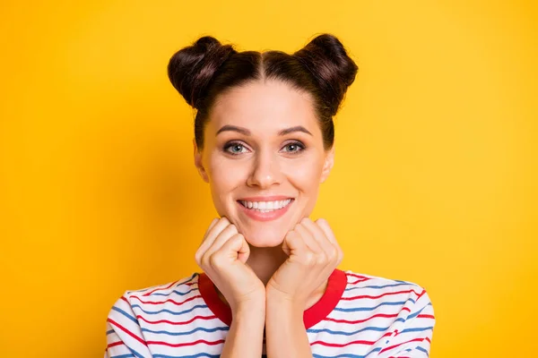
[[400,331],[379,352],[383,358],[427,358],[430,356],[435,316],[430,297],[422,288]]

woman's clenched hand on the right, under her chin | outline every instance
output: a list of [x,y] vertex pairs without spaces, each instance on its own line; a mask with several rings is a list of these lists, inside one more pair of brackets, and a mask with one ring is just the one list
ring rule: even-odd
[[282,250],[290,257],[267,283],[267,298],[278,297],[302,309],[340,264],[343,251],[325,219],[312,222],[308,217],[286,234]]

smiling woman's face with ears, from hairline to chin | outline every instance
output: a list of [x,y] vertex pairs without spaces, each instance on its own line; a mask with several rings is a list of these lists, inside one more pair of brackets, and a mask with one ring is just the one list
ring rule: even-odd
[[215,209],[256,247],[282,243],[314,209],[333,166],[310,96],[282,81],[256,81],[221,94],[195,146]]

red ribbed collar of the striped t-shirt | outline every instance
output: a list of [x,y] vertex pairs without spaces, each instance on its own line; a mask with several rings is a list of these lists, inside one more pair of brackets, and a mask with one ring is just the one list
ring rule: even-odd
[[[342,298],[343,290],[346,285],[347,277],[345,276],[345,272],[335,268],[329,277],[327,288],[321,299],[307,311],[304,311],[303,321],[305,323],[305,328],[308,329],[316,325],[334,310],[334,307],[336,307],[336,304],[338,304]],[[213,311],[213,314],[217,316],[219,320],[226,323],[228,326],[231,326],[230,306],[221,301],[215,286],[213,286],[213,282],[207,275],[205,275],[205,273],[201,273],[198,277],[198,289],[200,290],[200,294],[207,304],[207,307]]]

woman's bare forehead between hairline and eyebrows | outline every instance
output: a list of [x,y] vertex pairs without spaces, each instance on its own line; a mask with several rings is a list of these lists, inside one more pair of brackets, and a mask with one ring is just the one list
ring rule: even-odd
[[255,81],[230,89],[217,98],[208,126],[217,131],[225,124],[262,134],[302,125],[314,133],[317,117],[307,92],[282,81]]

